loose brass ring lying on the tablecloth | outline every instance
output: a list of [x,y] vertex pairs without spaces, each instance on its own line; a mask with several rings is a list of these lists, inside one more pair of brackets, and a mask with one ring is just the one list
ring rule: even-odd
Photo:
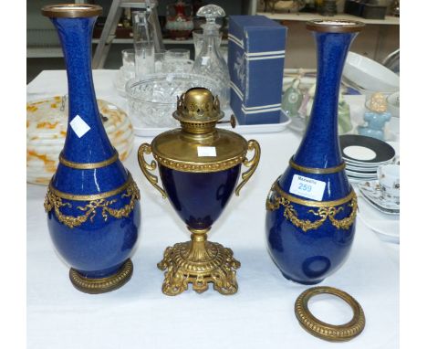
[[[353,310],[349,323],[334,325],[318,320],[308,309],[308,301],[318,294],[332,294],[346,301]],[[313,287],[302,292],[295,302],[299,324],[310,334],[329,342],[345,342],[359,335],[365,328],[365,314],[358,301],[349,293],[328,286]]]

